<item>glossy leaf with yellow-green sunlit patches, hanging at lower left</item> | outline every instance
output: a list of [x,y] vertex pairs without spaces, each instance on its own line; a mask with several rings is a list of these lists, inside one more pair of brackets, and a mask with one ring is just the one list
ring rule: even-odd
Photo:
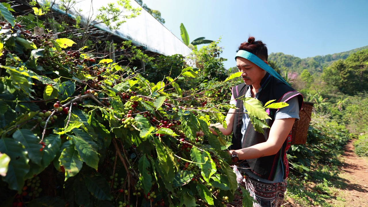
[[83,162],[79,158],[78,151],[74,149],[74,144],[64,148],[59,158],[60,166],[65,169],[65,181],[78,174],[82,169]]

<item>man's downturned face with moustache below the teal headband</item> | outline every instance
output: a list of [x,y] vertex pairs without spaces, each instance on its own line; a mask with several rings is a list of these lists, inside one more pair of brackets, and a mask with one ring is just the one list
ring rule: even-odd
[[[267,63],[267,61],[265,62]],[[236,58],[236,66],[238,67],[239,72],[242,72],[241,77],[243,78],[245,85],[258,86],[266,74],[265,70],[244,57]]]

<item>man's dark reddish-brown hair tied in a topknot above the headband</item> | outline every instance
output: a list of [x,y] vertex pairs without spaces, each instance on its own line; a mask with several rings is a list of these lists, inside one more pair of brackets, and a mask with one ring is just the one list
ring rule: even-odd
[[253,53],[257,57],[259,57],[261,60],[267,61],[268,51],[267,51],[266,44],[260,40],[258,41],[254,41],[254,40],[255,38],[250,36],[248,38],[248,42],[241,43],[236,52],[238,52],[239,50],[245,50],[247,52]]

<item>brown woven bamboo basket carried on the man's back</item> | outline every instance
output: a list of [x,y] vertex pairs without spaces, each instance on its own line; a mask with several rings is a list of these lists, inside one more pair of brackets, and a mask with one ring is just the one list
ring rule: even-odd
[[300,119],[294,123],[291,131],[291,144],[305,144],[307,142],[307,134],[309,122],[311,122],[313,103],[303,102],[303,106],[299,112]]

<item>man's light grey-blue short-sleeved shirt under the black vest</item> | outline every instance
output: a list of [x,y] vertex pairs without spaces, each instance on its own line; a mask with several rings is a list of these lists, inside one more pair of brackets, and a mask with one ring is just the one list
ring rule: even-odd
[[[245,94],[245,97],[252,97],[251,94],[251,87],[248,88],[247,93]],[[258,93],[255,94],[255,98],[258,99],[259,92],[261,92],[262,88],[259,88]],[[287,118],[295,118],[299,119],[299,102],[298,97],[293,97],[289,99],[286,103],[289,103],[289,106],[286,106],[284,108],[280,108],[275,113],[275,120],[276,119],[287,119]],[[231,101],[230,104],[236,105],[236,100],[234,100],[234,95],[231,95]],[[244,106],[243,106],[244,107]],[[244,108],[244,112],[247,112]],[[241,134],[244,138],[245,130],[247,129],[248,123],[250,121],[250,118],[248,116],[248,113],[243,113],[243,124],[241,128]],[[241,143],[243,143],[243,138],[241,140]],[[284,181],[284,172],[283,169],[280,167],[282,165],[282,158],[280,157],[280,163],[277,167],[276,175],[274,180],[267,180],[260,178],[259,176],[255,175],[250,169],[241,169],[243,172],[245,172],[247,175],[251,176],[252,178],[264,182],[264,183],[278,183]]]

